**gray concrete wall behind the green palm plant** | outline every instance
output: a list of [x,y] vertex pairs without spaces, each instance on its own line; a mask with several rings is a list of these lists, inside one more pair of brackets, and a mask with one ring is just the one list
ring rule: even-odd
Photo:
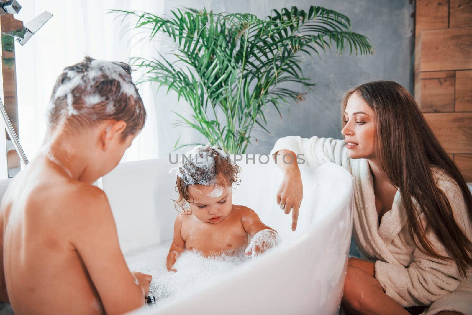
[[[247,153],[268,153],[282,136],[313,135],[341,138],[340,100],[342,94],[356,85],[372,80],[392,80],[413,93],[414,2],[412,0],[174,0],[166,1],[165,12],[177,7],[203,7],[213,12],[252,13],[259,17],[270,14],[271,9],[308,9],[310,5],[323,6],[347,15],[352,30],[366,35],[374,45],[375,53],[355,56],[344,53],[341,57],[327,52],[318,56],[304,56],[303,71],[316,86],[305,95],[306,100],[284,106],[282,119],[270,108],[266,113],[267,128],[271,135],[253,132],[257,143]],[[290,113],[288,113],[290,111]],[[172,117],[176,117],[172,115]],[[170,122],[169,122],[170,123]],[[174,130],[177,131],[177,130]],[[185,132],[194,132],[186,129]],[[179,133],[179,132],[177,132]],[[166,139],[162,139],[165,136]],[[200,137],[194,135],[194,140]],[[160,155],[169,151],[175,139],[160,133]],[[185,137],[189,139],[188,137]],[[192,141],[193,142],[193,141]]]

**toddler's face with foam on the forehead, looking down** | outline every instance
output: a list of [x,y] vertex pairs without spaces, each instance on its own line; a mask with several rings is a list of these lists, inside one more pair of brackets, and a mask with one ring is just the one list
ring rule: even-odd
[[218,224],[233,207],[231,187],[191,185],[188,188],[190,210],[200,221]]

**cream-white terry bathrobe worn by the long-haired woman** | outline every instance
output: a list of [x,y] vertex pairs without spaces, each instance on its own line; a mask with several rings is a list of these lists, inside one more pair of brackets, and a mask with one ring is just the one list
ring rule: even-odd
[[[415,246],[407,230],[399,191],[392,209],[382,216],[379,225],[369,163],[366,159],[350,159],[344,140],[286,136],[277,140],[270,153],[279,150],[303,153],[303,159],[310,168],[323,162],[335,162],[351,172],[354,179],[354,239],[362,258],[375,261],[375,277],[389,297],[404,307],[430,306],[423,314],[451,310],[472,315],[472,268],[464,279],[454,261],[436,259]],[[436,185],[449,199],[456,222],[472,239],[472,227],[460,188],[444,171],[431,170]],[[417,205],[414,198],[413,203]],[[428,228],[419,207],[417,213],[426,226],[426,237],[431,244],[440,255],[450,256]]]

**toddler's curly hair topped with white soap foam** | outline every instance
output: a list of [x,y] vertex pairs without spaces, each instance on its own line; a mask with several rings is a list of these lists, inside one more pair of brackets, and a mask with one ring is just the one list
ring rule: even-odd
[[[182,157],[177,172],[177,205],[186,213],[185,204],[193,202],[189,194],[191,185],[213,186],[209,197],[219,197],[225,188],[239,182],[241,168],[233,164],[227,153],[215,146],[197,145]],[[177,209],[178,211],[178,209]]]

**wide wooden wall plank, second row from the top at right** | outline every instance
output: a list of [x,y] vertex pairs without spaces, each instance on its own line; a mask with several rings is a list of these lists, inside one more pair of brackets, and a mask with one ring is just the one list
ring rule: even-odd
[[419,71],[472,69],[472,27],[422,31],[420,45]]

